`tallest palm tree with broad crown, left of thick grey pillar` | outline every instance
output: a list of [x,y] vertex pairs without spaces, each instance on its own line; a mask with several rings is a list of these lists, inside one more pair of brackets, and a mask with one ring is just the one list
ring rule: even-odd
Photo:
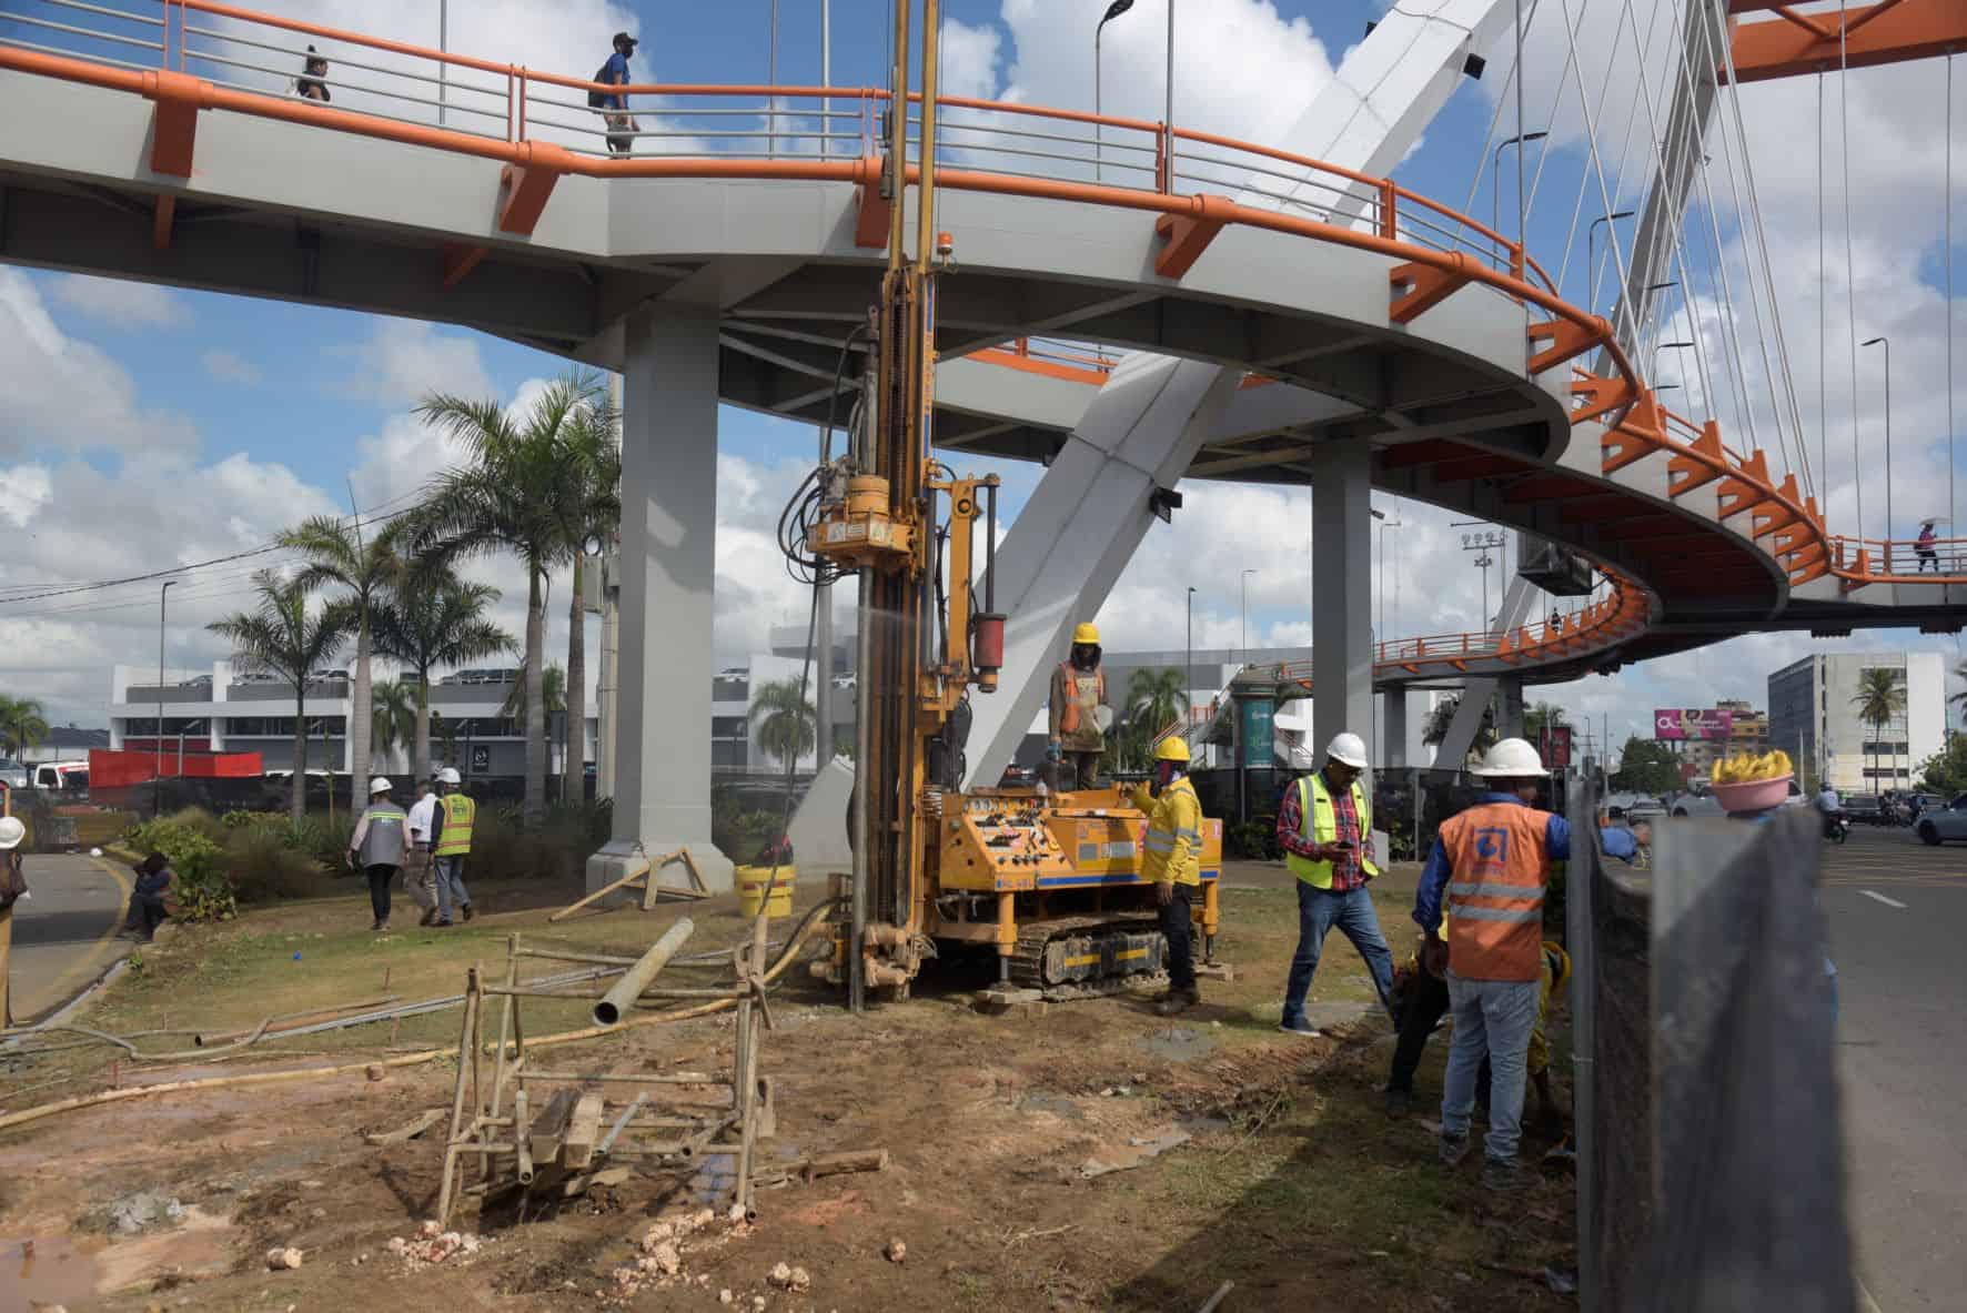
[[441,560],[511,552],[525,566],[525,818],[547,808],[547,580],[578,550],[570,525],[590,523],[584,430],[608,425],[600,375],[555,379],[523,415],[496,401],[431,395],[417,415],[466,448],[415,515],[419,550]]

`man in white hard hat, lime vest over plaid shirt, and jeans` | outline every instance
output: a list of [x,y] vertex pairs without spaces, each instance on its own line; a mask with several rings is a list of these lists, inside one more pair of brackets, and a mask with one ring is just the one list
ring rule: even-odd
[[1393,949],[1379,932],[1379,914],[1367,892],[1367,881],[1379,875],[1379,867],[1371,853],[1373,800],[1359,784],[1365,769],[1359,735],[1334,735],[1324,769],[1298,776],[1277,806],[1277,843],[1284,849],[1284,865],[1298,877],[1298,951],[1290,957],[1279,1020],[1279,1030],[1294,1036],[1318,1034],[1304,1016],[1304,997],[1334,926],[1359,949],[1381,1006],[1393,1010]]

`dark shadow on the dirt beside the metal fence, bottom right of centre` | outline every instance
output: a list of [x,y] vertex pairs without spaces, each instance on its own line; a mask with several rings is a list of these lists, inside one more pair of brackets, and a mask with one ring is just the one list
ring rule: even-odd
[[[1135,1193],[1127,1211],[1149,1230],[1174,1221],[1186,1238],[1119,1284],[1111,1307],[1198,1309],[1223,1282],[1235,1282],[1223,1313],[1576,1307],[1542,1280],[1546,1264],[1576,1264],[1572,1177],[1544,1173],[1495,1195],[1477,1185],[1479,1148],[1456,1171],[1436,1162],[1446,1040],[1444,1030],[1430,1042],[1401,1120],[1385,1116],[1381,1097],[1391,1036],[1371,1022],[1322,1067],[1261,1091],[1227,1132],[1182,1150],[1166,1171],[1113,1177],[1113,1189]],[[1524,1162],[1554,1138],[1526,1132]]]

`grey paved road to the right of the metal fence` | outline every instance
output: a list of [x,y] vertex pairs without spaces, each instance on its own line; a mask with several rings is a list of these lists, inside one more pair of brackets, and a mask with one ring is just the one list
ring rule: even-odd
[[[1884,902],[1890,900],[1890,902]],[[1892,906],[1902,904],[1902,906]],[[1861,1313],[1961,1309],[1967,845],[1861,826],[1827,849]]]

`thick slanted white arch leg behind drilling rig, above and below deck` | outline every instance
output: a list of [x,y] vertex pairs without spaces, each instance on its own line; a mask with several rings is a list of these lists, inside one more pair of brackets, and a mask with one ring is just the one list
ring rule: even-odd
[[[1454,92],[1467,55],[1501,33],[1503,16],[1507,8],[1499,0],[1416,0],[1397,8],[1347,53],[1286,143],[1349,169],[1391,171]],[[1275,191],[1275,179],[1265,187]],[[1255,193],[1239,200],[1271,204]],[[1334,195],[1326,191],[1320,204],[1334,204]],[[1349,204],[1357,208],[1359,200]],[[1174,487],[1212,436],[1190,415],[1204,393],[1218,397],[1212,409],[1222,411],[1239,383],[1241,373],[1233,370],[1166,356],[1129,356],[1044,472],[997,552],[997,598],[1011,621],[997,694],[972,700],[976,721],[966,786],[995,784],[1003,774],[1044,702],[1052,662],[1064,658],[1068,631],[1100,611],[1141,544],[1149,529],[1147,487]],[[1102,411],[1105,393],[1119,387],[1127,395]],[[1157,413],[1182,411],[1184,405],[1186,411],[1174,421],[1141,423],[1147,419],[1143,397],[1192,401],[1172,407],[1155,401]],[[1153,478],[1147,478],[1149,472]],[[1361,484],[1361,507],[1365,487]],[[1363,509],[1359,513],[1365,515]],[[1371,647],[1367,629],[1361,629],[1359,641]],[[1371,710],[1367,698],[1357,715],[1359,733],[1367,739],[1373,737]]]

